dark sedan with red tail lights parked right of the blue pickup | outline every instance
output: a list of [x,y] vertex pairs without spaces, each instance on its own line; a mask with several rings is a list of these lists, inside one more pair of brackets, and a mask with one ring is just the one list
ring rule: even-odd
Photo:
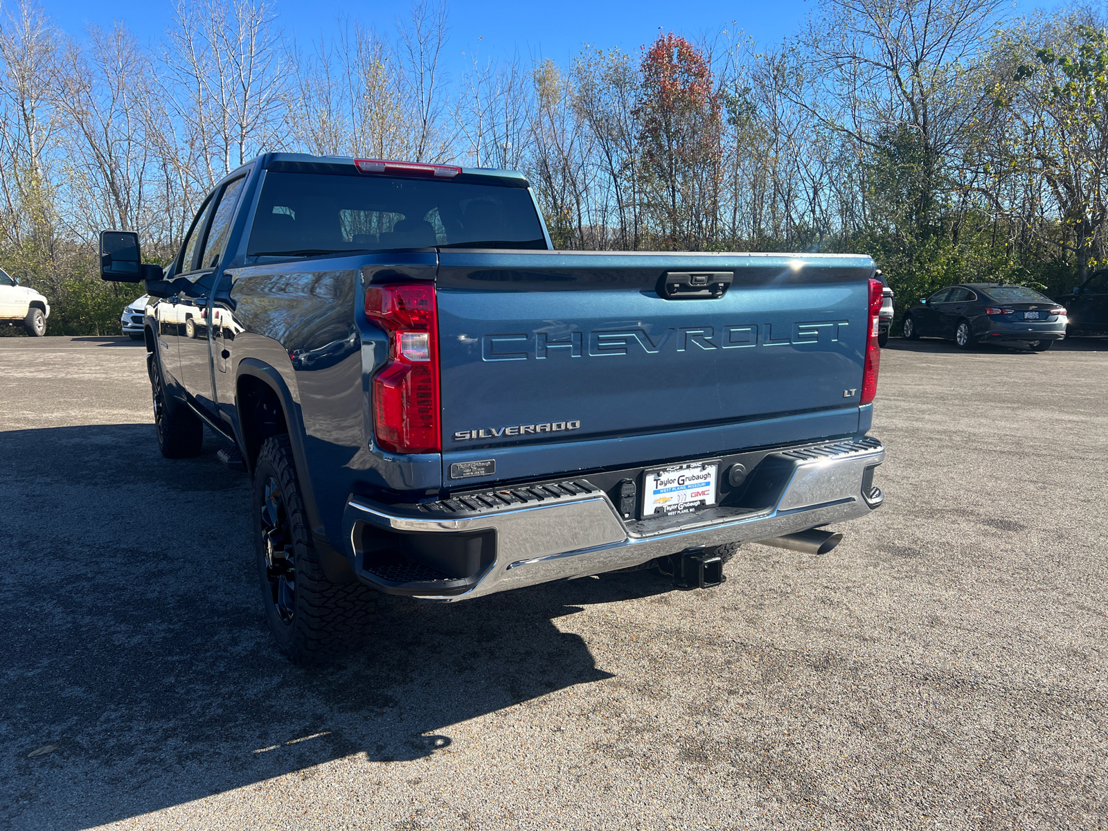
[[1023,343],[1044,352],[1066,337],[1066,309],[1026,286],[963,283],[941,288],[904,316],[904,337],[977,343]]

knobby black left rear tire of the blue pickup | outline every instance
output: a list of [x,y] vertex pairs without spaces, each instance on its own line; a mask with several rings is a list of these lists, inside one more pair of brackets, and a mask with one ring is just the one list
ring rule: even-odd
[[[266,512],[267,505],[274,504],[274,486],[279,489],[281,505],[278,523]],[[261,445],[254,471],[253,505],[261,602],[280,650],[294,664],[318,664],[365,646],[377,617],[377,592],[357,582],[335,584],[324,574],[288,435],[273,435]],[[279,533],[274,530],[278,527]],[[270,554],[278,550],[283,556]],[[274,567],[288,561],[290,564],[280,570]],[[275,581],[278,572],[286,579],[280,605],[277,594],[281,589]]]

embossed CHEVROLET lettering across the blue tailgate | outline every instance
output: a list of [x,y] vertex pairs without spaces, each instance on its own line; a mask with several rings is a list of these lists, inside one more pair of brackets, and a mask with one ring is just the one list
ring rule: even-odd
[[594,329],[556,336],[546,332],[485,335],[481,339],[481,359],[485,361],[545,360],[556,356],[592,358],[663,350],[700,352],[714,349],[831,343],[842,337],[849,320],[810,320],[789,326],[737,324],[721,326],[671,327],[652,337],[646,329]]

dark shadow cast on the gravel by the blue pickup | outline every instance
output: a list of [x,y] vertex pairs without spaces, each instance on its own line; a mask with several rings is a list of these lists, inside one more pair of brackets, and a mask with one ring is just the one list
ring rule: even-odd
[[6,828],[88,828],[332,759],[449,749],[466,719],[612,677],[556,620],[670,591],[637,572],[461,604],[384,598],[371,648],[298,668],[261,615],[247,479],[215,441],[174,462],[148,424],[3,443]]

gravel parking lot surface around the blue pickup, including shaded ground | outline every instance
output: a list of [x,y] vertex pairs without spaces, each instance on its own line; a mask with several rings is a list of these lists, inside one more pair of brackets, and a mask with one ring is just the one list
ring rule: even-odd
[[828,556],[389,599],[314,670],[144,363],[0,339],[0,827],[1108,828],[1104,341],[891,341],[886,502]]

